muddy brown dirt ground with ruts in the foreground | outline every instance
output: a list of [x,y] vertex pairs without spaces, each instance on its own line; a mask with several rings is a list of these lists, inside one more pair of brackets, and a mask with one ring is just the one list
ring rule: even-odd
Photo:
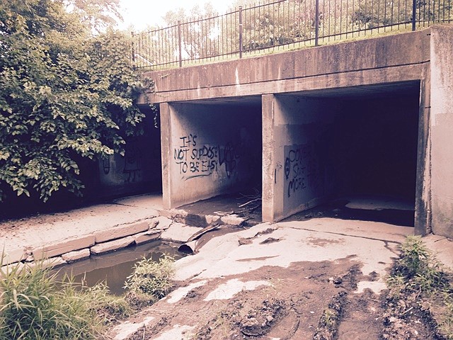
[[[394,314],[385,291],[355,293],[357,280],[372,276],[362,276],[353,259],[268,266],[240,278],[269,280],[271,286],[242,290],[230,300],[205,301],[218,285],[212,280],[174,305],[164,300],[145,311],[155,319],[130,339],[159,339],[164,329],[180,324],[196,327],[175,340],[440,339],[423,313],[411,310],[401,319]],[[239,276],[228,279],[234,278]]]

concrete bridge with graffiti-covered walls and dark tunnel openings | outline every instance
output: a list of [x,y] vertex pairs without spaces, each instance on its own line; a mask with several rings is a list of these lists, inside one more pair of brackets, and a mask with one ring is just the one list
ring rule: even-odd
[[257,187],[276,221],[392,196],[453,237],[453,26],[147,75],[165,208]]

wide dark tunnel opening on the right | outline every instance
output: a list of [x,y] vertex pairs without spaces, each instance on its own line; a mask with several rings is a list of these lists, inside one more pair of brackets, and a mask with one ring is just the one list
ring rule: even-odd
[[[413,227],[420,82],[314,91],[298,99],[309,100],[306,107],[323,108],[316,125],[310,120],[299,130],[306,134],[310,125],[311,134],[318,131],[303,144],[311,161],[304,164],[302,183],[311,193],[299,196],[303,199],[297,204],[304,210],[299,218],[340,217]],[[289,170],[291,179],[294,165]],[[316,191],[310,188],[314,179]],[[288,188],[294,188],[291,183]],[[287,195],[285,199],[290,200]]]

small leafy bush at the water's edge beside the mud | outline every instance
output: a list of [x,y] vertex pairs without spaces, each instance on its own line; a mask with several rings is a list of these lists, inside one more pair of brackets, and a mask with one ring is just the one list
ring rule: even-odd
[[129,297],[149,299],[152,303],[166,296],[173,287],[174,261],[172,256],[164,254],[157,262],[152,258],[143,258],[135,263],[134,271],[125,282],[125,288],[130,291]]

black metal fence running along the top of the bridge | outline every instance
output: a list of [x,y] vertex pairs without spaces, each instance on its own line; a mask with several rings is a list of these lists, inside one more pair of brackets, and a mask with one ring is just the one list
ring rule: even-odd
[[453,0],[274,0],[132,34],[132,59],[168,69],[451,22]]

